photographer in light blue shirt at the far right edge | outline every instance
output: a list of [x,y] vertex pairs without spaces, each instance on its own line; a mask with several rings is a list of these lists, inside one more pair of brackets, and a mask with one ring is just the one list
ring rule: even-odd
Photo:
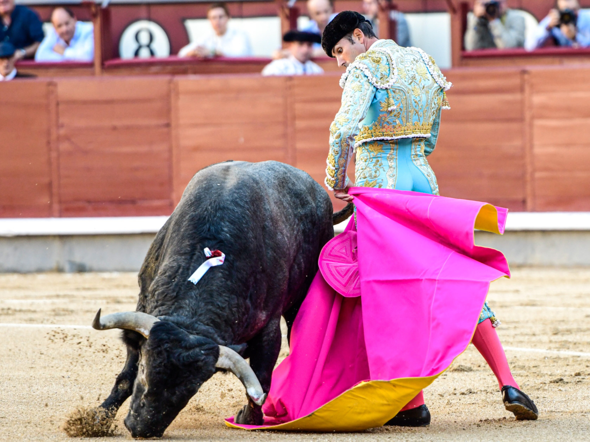
[[526,48],[532,51],[553,39],[558,46],[590,46],[590,11],[580,9],[578,0],[558,0],[556,8],[541,20],[526,41]]

